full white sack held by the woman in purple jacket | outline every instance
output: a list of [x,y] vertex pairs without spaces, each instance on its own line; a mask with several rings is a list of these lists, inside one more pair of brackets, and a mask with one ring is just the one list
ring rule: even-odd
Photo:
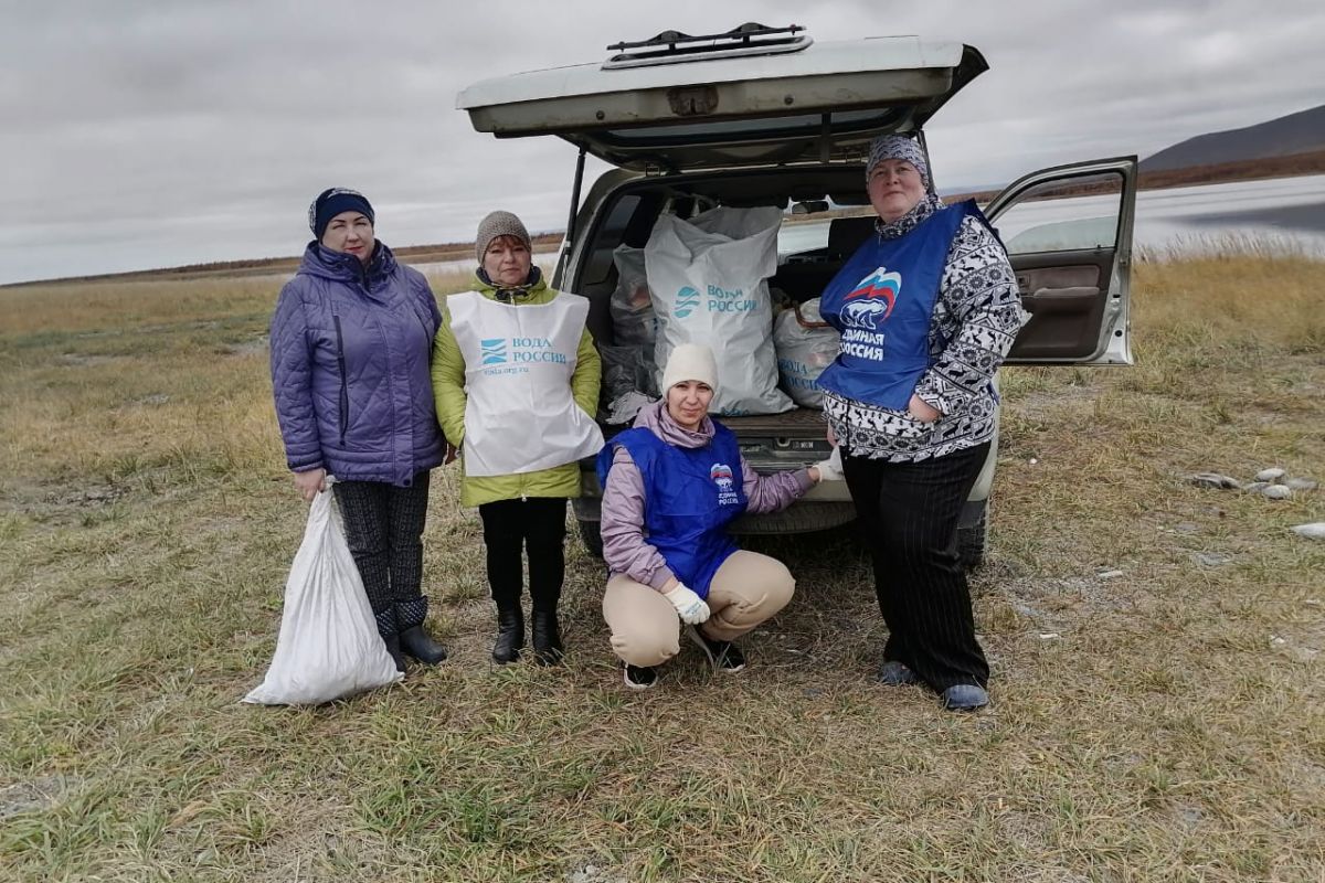
[[[333,481],[327,477],[329,485]],[[317,706],[400,678],[378,634],[329,487],[313,498],[309,526],[285,582],[272,665],[244,702]]]

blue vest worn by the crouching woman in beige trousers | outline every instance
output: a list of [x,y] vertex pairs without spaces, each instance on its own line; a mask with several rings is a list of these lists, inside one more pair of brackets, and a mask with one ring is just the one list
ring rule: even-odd
[[735,434],[717,421],[704,447],[668,445],[643,426],[628,429],[598,455],[598,481],[607,487],[620,445],[644,479],[644,528],[676,579],[701,598],[722,563],[737,551],[726,526],[745,512],[745,477]]

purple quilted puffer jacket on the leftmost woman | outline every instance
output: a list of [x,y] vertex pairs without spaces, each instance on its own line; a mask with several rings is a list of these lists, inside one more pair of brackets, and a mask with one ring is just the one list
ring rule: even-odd
[[441,323],[417,270],[310,242],[272,315],[272,389],[290,469],[408,487],[441,463],[428,359]]

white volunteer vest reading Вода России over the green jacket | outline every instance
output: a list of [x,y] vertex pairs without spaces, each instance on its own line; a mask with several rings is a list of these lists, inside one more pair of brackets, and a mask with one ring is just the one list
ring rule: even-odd
[[466,475],[515,475],[572,463],[603,447],[603,433],[571,396],[588,301],[558,293],[514,306],[477,291],[447,298],[465,357]]

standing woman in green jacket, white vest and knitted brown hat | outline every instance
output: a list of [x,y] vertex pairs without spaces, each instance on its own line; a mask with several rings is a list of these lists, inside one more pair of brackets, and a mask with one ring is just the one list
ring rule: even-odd
[[445,299],[433,342],[437,420],[461,451],[460,503],[477,506],[484,523],[493,661],[514,662],[525,646],[523,552],[534,658],[554,665],[566,500],[579,495],[580,458],[603,446],[594,421],[602,368],[584,327],[588,301],[547,287],[518,217],[493,212],[474,246],[474,290]]

